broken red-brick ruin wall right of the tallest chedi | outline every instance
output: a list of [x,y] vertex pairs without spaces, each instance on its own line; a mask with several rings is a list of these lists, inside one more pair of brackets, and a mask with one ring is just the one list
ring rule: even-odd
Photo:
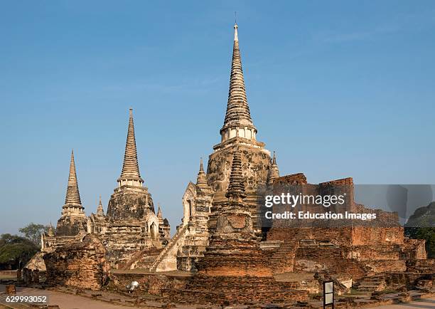
[[[283,184],[307,186],[304,174],[288,175],[274,179],[275,188]],[[308,226],[291,226],[289,221],[274,221],[267,231],[267,241],[291,241],[289,258],[295,273],[334,273],[348,275],[353,281],[377,273],[400,273],[407,271],[407,261],[424,260],[424,241],[407,239],[404,228],[399,224],[397,213],[379,209],[367,209],[356,204],[353,198],[353,179],[338,179],[304,189],[317,194],[332,194],[331,190],[345,188],[346,203],[343,211],[375,213],[374,223],[319,226],[313,221]],[[313,205],[308,205],[313,207]],[[322,206],[321,206],[322,207]],[[304,208],[304,207],[302,207]],[[335,209],[337,210],[337,209]],[[319,211],[323,211],[319,209]],[[305,224],[308,220],[305,220]],[[291,222],[292,224],[294,222]],[[308,222],[309,223],[309,222]],[[287,224],[287,226],[286,226]]]

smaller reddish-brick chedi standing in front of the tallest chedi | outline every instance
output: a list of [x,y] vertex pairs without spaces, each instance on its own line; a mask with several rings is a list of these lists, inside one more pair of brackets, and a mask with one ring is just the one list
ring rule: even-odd
[[307,300],[306,292],[291,284],[275,281],[270,256],[262,251],[254,234],[252,217],[244,199],[245,179],[242,154],[235,150],[230,184],[218,213],[215,232],[203,258],[196,263],[198,273],[182,290],[168,291],[170,300],[214,304]]

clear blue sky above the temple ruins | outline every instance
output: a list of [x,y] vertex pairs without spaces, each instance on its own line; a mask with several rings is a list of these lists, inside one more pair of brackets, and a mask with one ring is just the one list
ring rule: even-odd
[[107,209],[128,109],[172,231],[220,142],[237,11],[257,140],[308,182],[435,184],[434,1],[0,1],[0,234]]

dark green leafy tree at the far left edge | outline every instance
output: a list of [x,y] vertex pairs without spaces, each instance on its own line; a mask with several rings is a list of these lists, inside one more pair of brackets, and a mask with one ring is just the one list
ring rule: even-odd
[[38,249],[35,243],[21,236],[1,234],[0,264],[24,265],[38,252]]

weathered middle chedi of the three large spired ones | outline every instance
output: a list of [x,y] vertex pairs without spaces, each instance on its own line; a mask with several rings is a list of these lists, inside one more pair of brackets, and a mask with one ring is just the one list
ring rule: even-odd
[[[118,187],[107,207],[104,244],[112,267],[119,268],[125,266],[137,251],[161,248],[169,238],[168,233],[163,234],[168,231],[168,221],[163,223],[155,214],[151,194],[144,187],[139,172],[131,108],[124,162],[117,182]],[[159,226],[162,224],[167,226]]]

